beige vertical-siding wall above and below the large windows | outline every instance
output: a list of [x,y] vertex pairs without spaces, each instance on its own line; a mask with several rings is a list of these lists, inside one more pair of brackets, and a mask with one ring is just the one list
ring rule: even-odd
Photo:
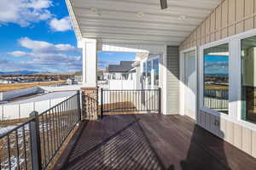
[[[255,12],[256,0],[224,0],[179,48],[182,50],[196,46],[199,49],[208,42],[252,30],[256,27]],[[252,129],[205,111],[197,112],[196,122],[247,154],[256,157],[256,132]]]

